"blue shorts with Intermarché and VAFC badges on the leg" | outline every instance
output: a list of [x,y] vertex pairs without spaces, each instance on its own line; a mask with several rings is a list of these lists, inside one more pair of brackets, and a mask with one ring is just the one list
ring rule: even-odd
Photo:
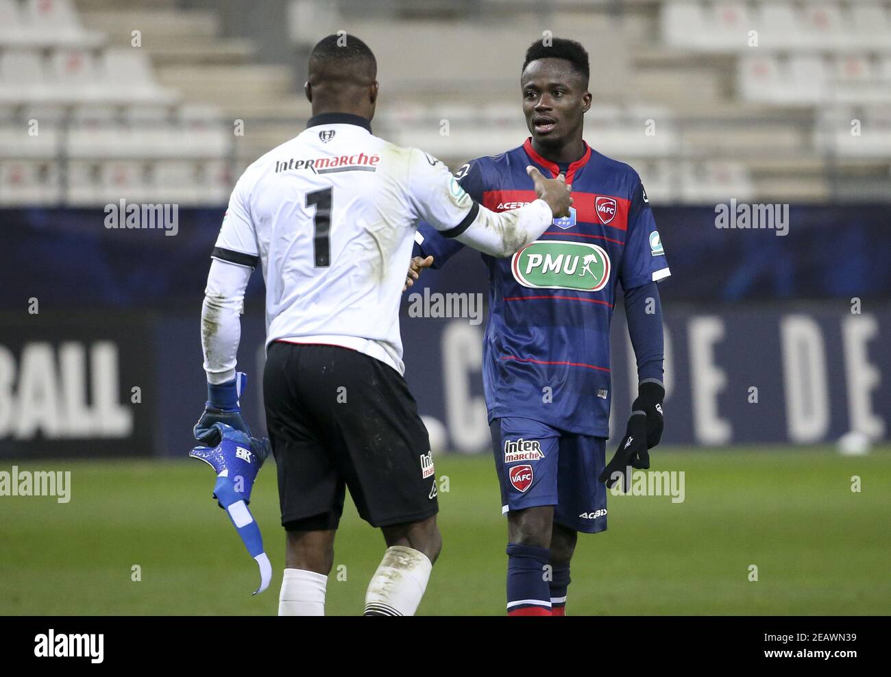
[[607,489],[597,480],[606,438],[574,435],[537,420],[503,417],[489,426],[502,512],[554,506],[554,521],[586,534],[607,528]]

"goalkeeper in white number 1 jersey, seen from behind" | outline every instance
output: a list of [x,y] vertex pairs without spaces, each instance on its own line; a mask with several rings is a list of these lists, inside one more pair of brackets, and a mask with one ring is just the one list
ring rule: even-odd
[[377,64],[356,37],[325,37],[309,60],[307,129],[241,175],[213,250],[201,314],[208,404],[195,435],[223,422],[249,435],[235,354],[250,273],[266,281],[266,425],[287,534],[280,615],[323,615],[348,488],[388,550],[369,616],[410,616],[441,548],[427,430],[403,379],[399,303],[419,219],[495,257],[564,216],[560,179],[530,168],[539,199],[500,214],[448,168],[372,135]]

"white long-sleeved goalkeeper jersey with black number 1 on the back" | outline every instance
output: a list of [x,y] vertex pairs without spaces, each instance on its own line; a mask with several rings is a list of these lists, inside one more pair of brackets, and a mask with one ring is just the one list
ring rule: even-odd
[[239,314],[257,263],[266,281],[266,345],[353,348],[404,371],[399,303],[420,219],[496,257],[551,224],[535,200],[495,213],[427,153],[372,135],[368,120],[328,113],[245,170],[213,250],[202,313],[208,380],[234,375]]

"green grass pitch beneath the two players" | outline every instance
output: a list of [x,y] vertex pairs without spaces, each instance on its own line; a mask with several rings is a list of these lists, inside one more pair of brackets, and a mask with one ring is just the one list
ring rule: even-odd
[[[891,448],[658,449],[685,472],[685,500],[609,496],[609,530],[581,535],[568,615],[891,613]],[[505,518],[489,456],[439,454],[444,549],[421,615],[504,613]],[[198,461],[42,461],[71,471],[71,500],[0,497],[0,614],[274,615],[284,535],[274,464],[251,508],[275,568],[257,567],[211,500]],[[12,462],[0,469],[10,470]],[[852,476],[861,491],[852,492]],[[358,615],[384,551],[352,504],[341,522],[327,611]],[[133,581],[135,565],[141,580]],[[757,581],[749,581],[749,567]]]

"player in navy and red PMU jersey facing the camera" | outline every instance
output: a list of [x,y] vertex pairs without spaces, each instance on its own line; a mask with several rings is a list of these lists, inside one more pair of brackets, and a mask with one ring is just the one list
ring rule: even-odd
[[[607,488],[650,467],[662,434],[663,334],[656,282],[670,273],[650,203],[632,167],[584,142],[588,54],[578,43],[536,42],[520,87],[531,137],[456,174],[470,197],[496,211],[535,200],[526,167],[563,174],[575,200],[538,241],[509,258],[483,256],[489,321],[483,385],[502,512],[508,521],[507,611],[563,616],[579,532],[607,527]],[[421,225],[411,285],[462,244]],[[606,463],[609,324],[625,294],[638,372],[625,436]]]

